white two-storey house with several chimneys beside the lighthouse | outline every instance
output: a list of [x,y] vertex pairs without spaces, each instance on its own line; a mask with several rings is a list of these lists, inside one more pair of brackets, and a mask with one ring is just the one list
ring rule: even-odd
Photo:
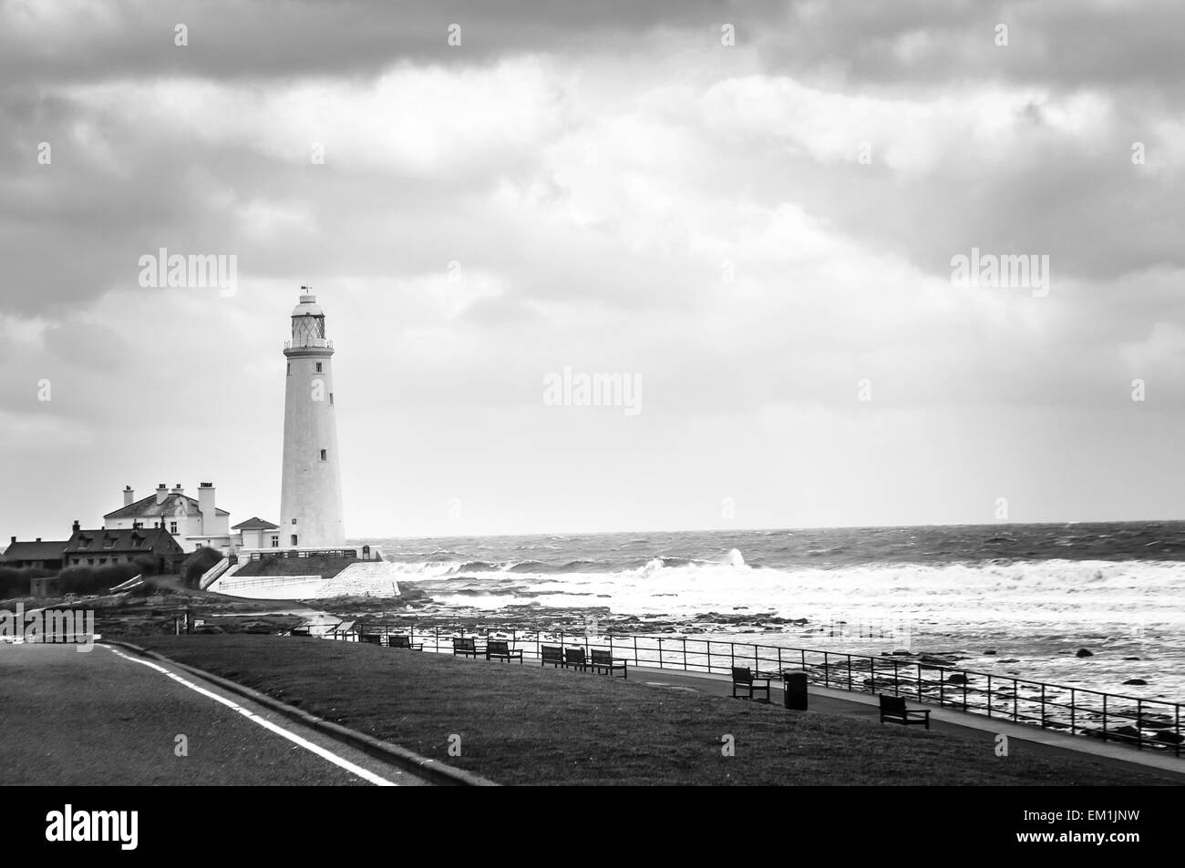
[[214,504],[214,487],[203,482],[197,499],[190,497],[177,483],[172,490],[165,483],[141,500],[128,486],[123,489],[123,506],[103,516],[103,527],[120,531],[164,527],[186,552],[203,546],[230,553],[230,513]]

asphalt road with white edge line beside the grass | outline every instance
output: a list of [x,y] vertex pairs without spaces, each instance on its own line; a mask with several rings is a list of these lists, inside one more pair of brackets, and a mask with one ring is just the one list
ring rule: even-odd
[[[96,645],[0,645],[4,783],[421,785],[205,682]],[[184,735],[187,756],[177,756]]]

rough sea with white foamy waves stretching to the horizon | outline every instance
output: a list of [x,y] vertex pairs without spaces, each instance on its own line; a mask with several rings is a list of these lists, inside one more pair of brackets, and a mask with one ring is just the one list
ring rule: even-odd
[[639,634],[909,650],[1185,702],[1179,521],[359,542],[382,546],[399,584],[427,593],[435,615],[575,612]]

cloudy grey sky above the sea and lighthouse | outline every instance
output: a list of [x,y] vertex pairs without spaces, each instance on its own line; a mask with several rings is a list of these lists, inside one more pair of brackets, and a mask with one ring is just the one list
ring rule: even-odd
[[[276,520],[306,283],[352,538],[1183,517],[1181,34],[1172,0],[0,1],[0,533],[158,482]],[[142,287],[161,247],[233,291]],[[973,247],[1048,287],[957,285]],[[545,400],[565,368],[640,412]]]

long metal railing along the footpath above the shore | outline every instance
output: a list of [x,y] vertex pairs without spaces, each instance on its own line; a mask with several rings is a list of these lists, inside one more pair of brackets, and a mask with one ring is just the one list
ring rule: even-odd
[[[416,630],[415,624],[351,623],[326,638],[390,644],[389,636],[410,636],[425,651],[451,654],[453,638],[478,636],[463,629]],[[1165,700],[1123,696],[1081,687],[980,673],[935,662],[933,657],[907,660],[897,655],[873,657],[845,651],[758,645],[720,639],[638,636],[633,634],[491,632],[521,648],[526,660],[540,660],[540,645],[608,650],[633,666],[688,673],[731,675],[734,666],[747,666],[779,677],[787,670],[805,671],[808,682],[857,693],[905,696],[944,708],[985,714],[1016,724],[1066,731],[1075,735],[1135,745],[1140,750],[1170,751],[1181,756],[1181,705]],[[487,637],[487,638],[488,638]],[[479,636],[479,638],[481,638]]]

